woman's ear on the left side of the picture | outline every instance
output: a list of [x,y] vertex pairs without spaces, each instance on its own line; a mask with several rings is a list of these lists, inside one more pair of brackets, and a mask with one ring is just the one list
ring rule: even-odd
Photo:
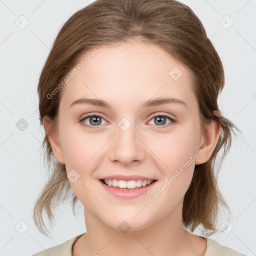
[[51,129],[51,125],[52,125],[52,119],[49,116],[44,116],[43,126],[48,136],[54,157],[59,163],[64,164],[65,161],[64,161],[63,151],[59,143],[58,130]]

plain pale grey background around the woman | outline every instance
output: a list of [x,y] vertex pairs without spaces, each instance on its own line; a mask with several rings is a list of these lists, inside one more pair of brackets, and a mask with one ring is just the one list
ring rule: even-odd
[[[80,202],[76,217],[68,203],[55,211],[53,239],[42,235],[32,218],[35,200],[47,178],[39,150],[44,130],[38,119],[38,78],[60,27],[71,14],[91,2],[0,0],[1,256],[32,255],[86,231]],[[220,189],[232,211],[233,229],[230,225],[225,232],[210,238],[246,255],[255,255],[256,1],[181,2],[201,19],[222,59],[226,83],[219,107],[244,135],[234,141],[219,175]],[[21,15],[25,17],[21,17],[22,24]],[[21,29],[26,20],[29,24]],[[234,24],[229,27],[232,20]],[[17,127],[22,118],[28,125],[23,131]],[[225,220],[223,217],[221,221]],[[196,233],[200,234],[200,230]]]

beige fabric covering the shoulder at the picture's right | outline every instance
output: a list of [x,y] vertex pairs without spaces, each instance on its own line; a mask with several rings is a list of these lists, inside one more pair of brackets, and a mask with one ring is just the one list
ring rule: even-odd
[[246,256],[229,247],[222,246],[217,241],[205,237],[207,239],[207,249],[204,256]]

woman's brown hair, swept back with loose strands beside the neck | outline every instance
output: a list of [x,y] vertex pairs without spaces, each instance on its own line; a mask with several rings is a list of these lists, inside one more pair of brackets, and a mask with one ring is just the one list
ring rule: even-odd
[[[212,119],[221,125],[211,158],[195,166],[183,204],[185,227],[193,232],[201,224],[204,234],[215,233],[219,206],[229,210],[217,185],[219,166],[230,149],[231,132],[240,130],[222,115],[213,114],[214,110],[218,110],[217,98],[224,87],[223,66],[201,21],[185,4],[175,0],[97,0],[74,13],[58,32],[40,75],[38,94],[41,125],[43,117],[48,115],[53,121],[52,130],[57,128],[62,90],[51,99],[47,95],[63,81],[79,57],[96,46],[125,43],[135,38],[160,46],[190,68],[194,76],[193,90],[199,104],[202,131]],[[45,147],[44,160],[49,179],[36,201],[34,221],[40,232],[46,234],[43,211],[52,222],[54,216],[51,209],[56,207],[60,199],[63,201],[72,195],[75,214],[77,197],[70,187],[65,164],[58,163],[52,154],[47,134],[42,146]],[[223,154],[219,166],[215,168],[221,149]]]

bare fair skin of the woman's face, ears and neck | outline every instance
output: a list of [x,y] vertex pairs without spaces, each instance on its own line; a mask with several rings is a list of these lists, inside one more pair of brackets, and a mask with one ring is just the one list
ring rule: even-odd
[[[55,158],[66,165],[67,173],[75,169],[80,175],[69,183],[84,205],[87,233],[75,242],[73,255],[204,255],[206,240],[184,229],[182,206],[195,164],[209,160],[220,126],[212,121],[201,132],[192,73],[159,46],[133,40],[97,48],[95,57],[62,89],[58,128],[51,131],[51,120],[44,117]],[[176,81],[169,75],[175,66],[183,72]],[[69,107],[82,97],[103,99],[112,109],[85,104]],[[145,101],[158,97],[178,98],[188,107],[141,108]],[[89,113],[102,116],[101,124],[93,126],[90,118],[83,123],[92,129],[79,123]],[[167,126],[167,118],[166,124],[157,124],[154,114],[168,115],[176,122]],[[122,118],[131,123],[125,132],[118,127]],[[200,156],[150,202],[149,195],[196,152]],[[137,198],[120,199],[107,193],[98,180],[114,174],[148,176],[157,179],[157,184]],[[131,227],[125,234],[118,229],[124,220]]]

